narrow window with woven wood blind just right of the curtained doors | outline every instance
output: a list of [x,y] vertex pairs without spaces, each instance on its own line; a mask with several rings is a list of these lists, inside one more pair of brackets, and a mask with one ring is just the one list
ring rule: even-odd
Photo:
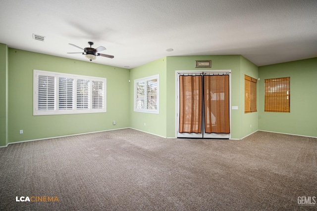
[[244,113],[257,111],[257,82],[258,80],[244,75]]

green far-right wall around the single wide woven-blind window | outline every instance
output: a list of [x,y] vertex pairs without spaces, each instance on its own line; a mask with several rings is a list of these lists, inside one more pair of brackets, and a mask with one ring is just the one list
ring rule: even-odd
[[[317,58],[259,67],[259,129],[317,137]],[[290,113],[264,112],[264,79],[290,77]]]

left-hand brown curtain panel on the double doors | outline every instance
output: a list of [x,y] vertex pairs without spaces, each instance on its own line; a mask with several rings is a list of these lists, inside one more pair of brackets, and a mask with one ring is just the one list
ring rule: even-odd
[[202,76],[180,76],[179,132],[202,132]]

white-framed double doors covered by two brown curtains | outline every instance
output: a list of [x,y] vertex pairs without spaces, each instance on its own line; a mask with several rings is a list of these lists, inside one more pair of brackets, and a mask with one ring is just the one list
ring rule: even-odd
[[230,138],[231,71],[177,71],[177,137]]

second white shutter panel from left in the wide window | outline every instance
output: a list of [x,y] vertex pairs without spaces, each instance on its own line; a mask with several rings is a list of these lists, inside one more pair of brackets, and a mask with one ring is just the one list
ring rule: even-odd
[[74,109],[74,79],[58,78],[58,109]]

